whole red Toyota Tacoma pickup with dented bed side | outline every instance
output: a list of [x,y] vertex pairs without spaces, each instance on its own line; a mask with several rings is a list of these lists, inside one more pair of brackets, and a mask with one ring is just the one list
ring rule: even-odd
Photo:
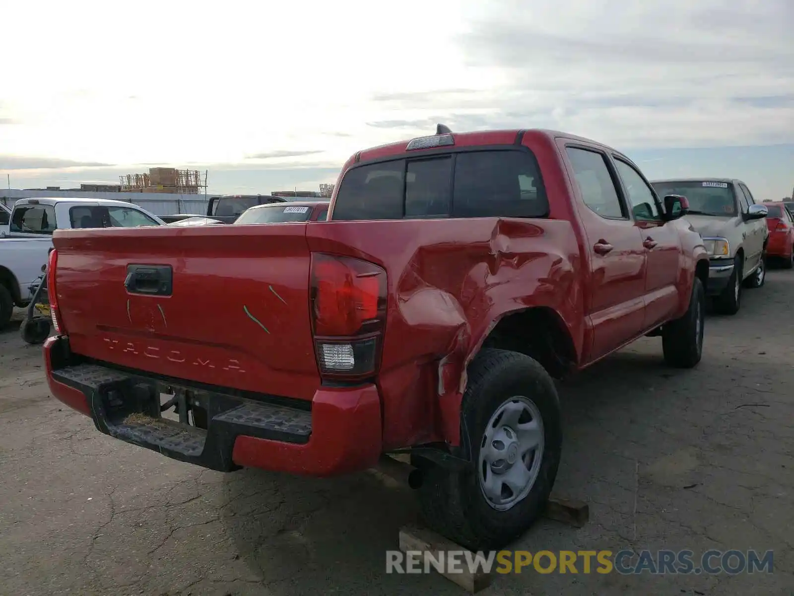
[[52,394],[214,470],[410,452],[427,522],[498,548],[557,474],[553,377],[643,335],[700,361],[709,261],[686,199],[615,149],[440,126],[356,153],[336,188],[326,222],[56,231]]

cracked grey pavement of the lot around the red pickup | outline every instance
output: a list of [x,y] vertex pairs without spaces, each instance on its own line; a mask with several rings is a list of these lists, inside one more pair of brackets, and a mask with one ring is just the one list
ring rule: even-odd
[[[696,370],[642,339],[561,383],[555,492],[591,521],[542,521],[515,548],[773,549],[774,574],[525,570],[483,594],[794,594],[794,274],[743,297],[707,319]],[[39,347],[0,334],[0,594],[461,594],[384,573],[415,518],[410,490],[377,474],[218,474],[110,439],[49,397]]]

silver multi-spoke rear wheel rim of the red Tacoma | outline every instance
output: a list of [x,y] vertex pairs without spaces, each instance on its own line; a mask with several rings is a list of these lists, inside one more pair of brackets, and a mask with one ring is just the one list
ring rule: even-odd
[[534,401],[511,397],[496,409],[480,442],[478,474],[488,505],[506,511],[529,494],[543,444],[543,419]]

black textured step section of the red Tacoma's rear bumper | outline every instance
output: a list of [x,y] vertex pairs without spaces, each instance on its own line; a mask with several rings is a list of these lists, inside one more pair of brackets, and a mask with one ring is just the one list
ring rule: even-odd
[[53,370],[52,378],[83,392],[94,424],[106,435],[212,470],[237,469],[232,462],[237,436],[303,444],[311,435],[311,412],[305,409],[179,387],[206,407],[210,423],[204,430],[152,415],[160,411],[159,388],[178,383],[97,364]]

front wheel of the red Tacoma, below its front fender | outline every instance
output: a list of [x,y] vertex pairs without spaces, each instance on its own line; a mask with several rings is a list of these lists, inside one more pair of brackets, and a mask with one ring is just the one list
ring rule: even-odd
[[703,355],[703,323],[706,320],[706,291],[695,277],[689,308],[680,319],[662,327],[661,349],[665,362],[680,369],[691,369]]

